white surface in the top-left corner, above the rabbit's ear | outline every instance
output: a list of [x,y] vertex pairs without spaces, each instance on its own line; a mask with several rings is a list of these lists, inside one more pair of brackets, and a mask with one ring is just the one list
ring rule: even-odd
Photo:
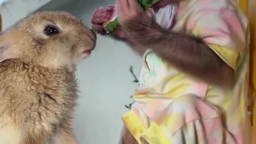
[[[3,0],[0,0],[0,3]],[[52,0],[7,0],[2,6],[0,13],[3,19],[3,30],[25,18],[29,13],[36,11],[41,6]]]

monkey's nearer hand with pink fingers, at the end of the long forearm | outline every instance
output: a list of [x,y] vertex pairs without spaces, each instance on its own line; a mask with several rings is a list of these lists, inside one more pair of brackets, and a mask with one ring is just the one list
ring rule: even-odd
[[152,26],[153,23],[154,26],[159,27],[154,20],[153,9],[143,11],[136,0],[117,0],[116,10],[123,39],[142,57],[148,47],[140,44],[142,42],[140,37],[143,36],[137,34]]

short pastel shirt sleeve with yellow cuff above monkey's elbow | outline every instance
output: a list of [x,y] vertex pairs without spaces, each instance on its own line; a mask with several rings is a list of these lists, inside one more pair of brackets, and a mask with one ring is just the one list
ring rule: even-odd
[[237,13],[231,9],[203,9],[191,15],[188,29],[202,37],[223,61],[236,70],[239,55],[246,46],[246,32]]

